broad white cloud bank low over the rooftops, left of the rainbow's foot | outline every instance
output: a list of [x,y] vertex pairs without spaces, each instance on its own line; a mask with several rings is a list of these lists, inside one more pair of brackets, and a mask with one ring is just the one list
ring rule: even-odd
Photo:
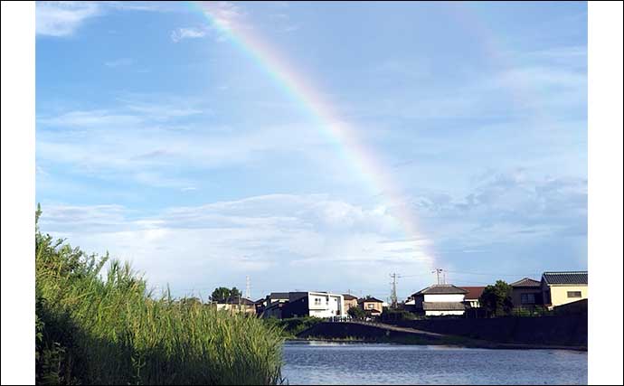
[[118,205],[44,203],[41,221],[43,231],[88,252],[131,259],[151,284],[168,282],[177,294],[237,285],[245,275],[257,290],[385,291],[389,269],[430,265],[430,242],[396,240],[401,230],[388,214],[319,194],[256,196],[140,218]]

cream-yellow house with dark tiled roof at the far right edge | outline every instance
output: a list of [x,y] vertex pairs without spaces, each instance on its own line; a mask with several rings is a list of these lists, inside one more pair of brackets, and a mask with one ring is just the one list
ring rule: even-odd
[[587,298],[587,271],[544,272],[542,297],[544,306],[553,309]]

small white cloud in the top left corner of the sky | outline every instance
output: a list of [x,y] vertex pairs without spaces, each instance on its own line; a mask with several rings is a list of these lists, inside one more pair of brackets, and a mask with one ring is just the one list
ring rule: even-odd
[[83,22],[101,14],[97,2],[36,2],[36,33],[69,36]]

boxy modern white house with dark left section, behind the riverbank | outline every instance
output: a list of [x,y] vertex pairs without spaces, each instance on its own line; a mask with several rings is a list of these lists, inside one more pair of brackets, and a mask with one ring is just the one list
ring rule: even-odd
[[[288,297],[287,297],[288,295]],[[272,293],[263,317],[345,316],[345,299],[342,295],[328,292],[287,292]]]

